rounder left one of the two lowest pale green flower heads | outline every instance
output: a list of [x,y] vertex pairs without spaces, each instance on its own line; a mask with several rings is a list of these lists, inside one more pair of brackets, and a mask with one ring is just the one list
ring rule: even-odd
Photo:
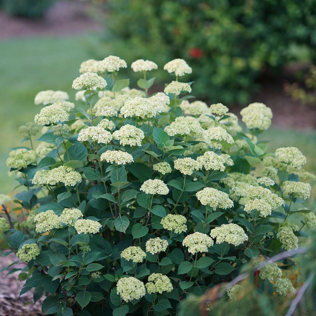
[[116,291],[126,302],[138,300],[146,294],[144,283],[132,276],[119,279]]

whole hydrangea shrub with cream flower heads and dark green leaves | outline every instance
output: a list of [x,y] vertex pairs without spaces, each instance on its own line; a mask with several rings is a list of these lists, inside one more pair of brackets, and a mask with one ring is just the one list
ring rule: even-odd
[[[296,249],[304,234],[292,214],[316,228],[313,212],[293,211],[315,179],[302,169],[306,157],[294,147],[267,153],[258,141],[271,124],[269,107],[245,107],[242,131],[226,106],[188,101],[184,60],[164,66],[175,80],[153,95],[148,75],[157,64],[131,65],[142,73],[140,89],[118,79],[125,67],[115,56],[83,62],[75,103],[62,91],[37,94],[38,125],[20,128],[31,147],[6,161],[24,187],[15,210],[27,215],[23,225],[12,222],[10,198],[1,195],[8,222],[0,218],[0,231],[6,253],[26,264],[21,294],[44,295],[46,314],[175,313],[252,259]],[[272,282],[277,295],[295,293],[277,263],[259,276],[261,291]],[[234,285],[227,299],[242,290]]]

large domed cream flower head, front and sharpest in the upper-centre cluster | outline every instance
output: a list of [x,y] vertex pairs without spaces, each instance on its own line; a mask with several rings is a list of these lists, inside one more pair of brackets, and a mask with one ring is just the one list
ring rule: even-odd
[[125,118],[133,116],[146,116],[152,118],[157,115],[155,107],[151,101],[139,97],[127,100],[121,108],[121,114],[124,115]]

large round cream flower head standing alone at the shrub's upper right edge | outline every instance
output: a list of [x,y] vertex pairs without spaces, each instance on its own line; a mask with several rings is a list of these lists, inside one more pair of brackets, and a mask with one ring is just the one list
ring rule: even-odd
[[263,103],[251,103],[240,114],[249,129],[267,130],[271,125],[272,111]]

